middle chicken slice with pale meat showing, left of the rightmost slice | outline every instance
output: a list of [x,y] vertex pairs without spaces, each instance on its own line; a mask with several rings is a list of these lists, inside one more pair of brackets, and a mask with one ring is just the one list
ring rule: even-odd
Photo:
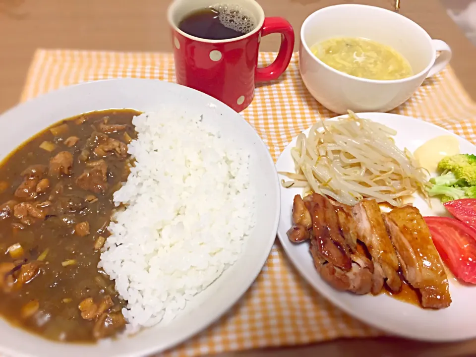
[[388,287],[400,291],[402,281],[398,276],[398,258],[388,237],[380,207],[375,200],[363,200],[353,207],[357,222],[358,239],[367,247],[374,265],[372,293],[378,294],[386,279]]

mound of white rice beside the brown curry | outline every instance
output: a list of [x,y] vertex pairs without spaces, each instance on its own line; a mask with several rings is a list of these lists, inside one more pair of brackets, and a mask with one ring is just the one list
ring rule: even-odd
[[114,194],[116,213],[99,267],[127,300],[127,332],[172,320],[237,260],[254,226],[249,154],[200,118],[133,119],[136,160]]

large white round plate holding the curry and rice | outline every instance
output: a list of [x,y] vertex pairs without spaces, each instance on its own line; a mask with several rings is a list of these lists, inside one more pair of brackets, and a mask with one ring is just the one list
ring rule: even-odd
[[276,168],[268,149],[246,120],[201,92],[149,79],[115,79],[66,87],[0,116],[0,158],[61,119],[101,109],[131,108],[146,112],[164,107],[177,116],[203,115],[203,120],[218,128],[222,137],[250,153],[250,186],[256,192],[257,224],[238,261],[190,301],[168,325],[159,324],[133,337],[110,343],[77,345],[47,341],[0,319],[0,355],[129,357],[157,353],[177,345],[218,319],[246,292],[261,271],[278,227],[280,190]]

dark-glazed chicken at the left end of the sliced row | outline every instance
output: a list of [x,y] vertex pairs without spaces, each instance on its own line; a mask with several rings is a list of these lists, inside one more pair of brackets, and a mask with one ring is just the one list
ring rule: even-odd
[[[339,209],[343,212],[339,213]],[[305,211],[304,211],[305,210]],[[321,277],[332,287],[367,294],[372,287],[373,264],[352,242],[350,207],[346,212],[326,197],[313,194],[295,196],[294,226],[288,231],[293,242],[310,238],[310,251]],[[346,223],[347,222],[347,223]],[[309,224],[310,223],[310,224]]]

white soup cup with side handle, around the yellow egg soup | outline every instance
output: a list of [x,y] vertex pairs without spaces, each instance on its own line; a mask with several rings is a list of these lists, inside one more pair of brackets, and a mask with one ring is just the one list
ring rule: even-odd
[[[340,72],[318,60],[310,48],[336,37],[361,37],[391,46],[412,66],[411,77],[373,80]],[[338,114],[347,110],[387,112],[407,101],[421,83],[440,72],[451,59],[451,49],[415,22],[376,6],[343,4],[309,15],[301,27],[299,70],[311,95]],[[436,53],[440,51],[437,57]]]

